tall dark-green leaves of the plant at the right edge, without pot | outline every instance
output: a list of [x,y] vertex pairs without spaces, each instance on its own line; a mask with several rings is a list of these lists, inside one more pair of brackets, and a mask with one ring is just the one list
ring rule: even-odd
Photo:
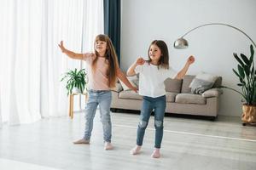
[[222,88],[229,88],[241,94],[245,99],[245,105],[256,105],[256,71],[254,68],[254,49],[250,46],[251,56],[248,58],[245,54],[240,54],[240,57],[234,53],[234,57],[238,62],[237,70],[233,69],[236,76],[239,78],[237,86],[241,87],[241,92],[234,88],[222,86]]

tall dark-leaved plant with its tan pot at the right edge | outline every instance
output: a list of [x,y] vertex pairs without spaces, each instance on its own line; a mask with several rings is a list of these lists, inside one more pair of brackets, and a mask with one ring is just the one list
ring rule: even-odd
[[[235,53],[238,65],[237,70],[233,69],[236,76],[239,78],[237,86],[241,88],[241,92],[234,88],[229,88],[241,94],[245,103],[242,105],[242,124],[245,126],[246,123],[256,122],[256,71],[254,68],[254,49],[253,45],[250,46],[251,56],[248,58],[244,54],[240,54],[240,57]],[[228,88],[222,86],[222,88]]]

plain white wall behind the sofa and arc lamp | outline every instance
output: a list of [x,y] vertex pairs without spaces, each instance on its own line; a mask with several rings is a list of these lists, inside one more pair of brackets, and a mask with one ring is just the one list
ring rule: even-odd
[[[127,70],[138,56],[148,58],[154,39],[164,40],[170,63],[179,71],[190,54],[196,61],[188,74],[207,71],[223,77],[223,84],[236,88],[233,53],[249,54],[250,41],[241,32],[227,26],[206,26],[185,38],[189,48],[175,49],[173,42],[185,32],[210,22],[236,26],[256,42],[255,0],[122,0],[121,68]],[[256,57],[255,57],[256,58]],[[255,59],[254,59],[255,60]],[[221,97],[220,115],[241,116],[241,97],[228,89]]]

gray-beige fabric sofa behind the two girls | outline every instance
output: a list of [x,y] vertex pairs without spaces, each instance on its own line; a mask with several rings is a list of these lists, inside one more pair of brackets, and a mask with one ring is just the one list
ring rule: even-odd
[[[218,77],[212,88],[203,94],[191,94],[189,84],[194,77],[186,75],[183,80],[166,80],[166,113],[208,116],[214,120],[218,116],[222,77]],[[119,82],[112,91],[112,97],[111,111],[141,109],[142,96],[131,90],[123,90]]]

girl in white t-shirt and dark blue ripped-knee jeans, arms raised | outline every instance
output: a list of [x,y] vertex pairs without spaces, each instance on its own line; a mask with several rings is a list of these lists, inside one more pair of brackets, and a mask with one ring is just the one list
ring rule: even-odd
[[195,58],[189,56],[183,69],[176,73],[169,67],[169,54],[166,42],[154,40],[148,48],[148,60],[138,58],[127,71],[127,76],[139,74],[139,94],[143,96],[140,122],[137,127],[137,145],[131,150],[137,155],[143,145],[145,129],[151,112],[154,110],[155,140],[152,157],[160,157],[160,146],[163,139],[163,122],[166,111],[166,90],[164,81],[168,77],[182,79],[194,63]]

